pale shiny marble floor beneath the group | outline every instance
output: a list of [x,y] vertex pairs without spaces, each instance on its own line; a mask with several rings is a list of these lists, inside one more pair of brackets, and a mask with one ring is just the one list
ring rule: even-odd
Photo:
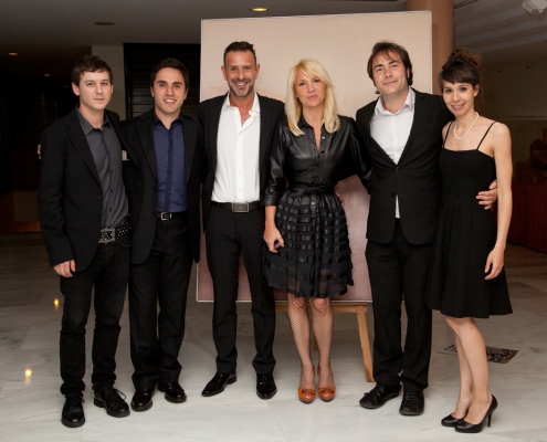
[[[299,366],[284,313],[277,316],[275,340],[278,391],[269,401],[256,397],[248,304],[239,305],[238,382],[219,396],[202,398],[201,389],[214,373],[211,305],[198,304],[193,296],[180,354],[187,402],[172,404],[157,393],[150,410],[115,419],[94,407],[88,387],[86,423],[67,429],[60,422],[64,398],[59,392],[62,297],[57,277],[48,266],[39,234],[0,235],[0,441],[547,441],[547,255],[509,245],[506,266],[515,313],[481,320],[480,327],[488,346],[518,354],[508,364],[490,364],[499,408],[492,428],[481,434],[459,434],[440,424],[453,411],[459,373],[456,357],[439,352],[453,341],[439,314],[434,315],[425,412],[408,418],[399,414],[399,400],[379,410],[359,407],[361,394],[374,385],[365,380],[351,314],[335,318],[337,396],[333,402],[316,400],[305,406],[297,400]],[[367,319],[372,338],[370,309]],[[127,308],[122,326],[116,387],[130,399]],[[90,373],[85,382],[90,386]]]

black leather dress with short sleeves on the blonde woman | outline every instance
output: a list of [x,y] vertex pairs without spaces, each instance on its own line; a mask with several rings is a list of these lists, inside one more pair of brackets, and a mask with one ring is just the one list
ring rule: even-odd
[[334,188],[351,175],[364,177],[367,167],[354,119],[339,118],[335,133],[322,128],[319,148],[303,118],[304,135],[293,135],[285,120],[272,144],[263,203],[277,206],[285,246],[277,254],[265,246],[263,272],[269,285],[295,296],[338,296],[353,285],[346,214]]

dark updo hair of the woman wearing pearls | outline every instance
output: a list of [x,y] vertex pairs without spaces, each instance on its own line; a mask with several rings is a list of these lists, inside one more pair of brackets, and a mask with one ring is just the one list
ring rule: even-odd
[[473,87],[481,84],[481,55],[470,54],[463,48],[455,49],[444,63],[438,76],[441,90],[444,82],[449,83],[469,83]]

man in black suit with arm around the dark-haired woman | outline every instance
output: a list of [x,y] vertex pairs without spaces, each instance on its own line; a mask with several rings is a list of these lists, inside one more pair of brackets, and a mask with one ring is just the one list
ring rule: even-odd
[[[431,311],[425,304],[431,245],[441,199],[438,170],[442,128],[452,118],[440,96],[412,87],[404,48],[379,42],[368,74],[380,97],[357,112],[357,125],[372,162],[365,252],[375,315],[376,387],[360,404],[382,407],[404,396],[399,412],[423,413],[431,357]],[[493,183],[492,188],[495,185]],[[480,192],[490,208],[496,191]],[[408,316],[401,348],[401,302]]]

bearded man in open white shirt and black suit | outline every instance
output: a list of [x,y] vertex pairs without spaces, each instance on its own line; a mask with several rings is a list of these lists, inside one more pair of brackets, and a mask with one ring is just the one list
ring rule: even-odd
[[273,292],[262,281],[264,194],[272,135],[284,116],[284,105],[254,91],[260,65],[253,45],[233,42],[222,65],[229,93],[199,106],[203,125],[207,176],[202,191],[207,261],[213,281],[213,339],[217,373],[202,391],[214,396],[236,380],[235,348],[239,257],[249,275],[254,322],[256,394],[272,398],[275,358]]

